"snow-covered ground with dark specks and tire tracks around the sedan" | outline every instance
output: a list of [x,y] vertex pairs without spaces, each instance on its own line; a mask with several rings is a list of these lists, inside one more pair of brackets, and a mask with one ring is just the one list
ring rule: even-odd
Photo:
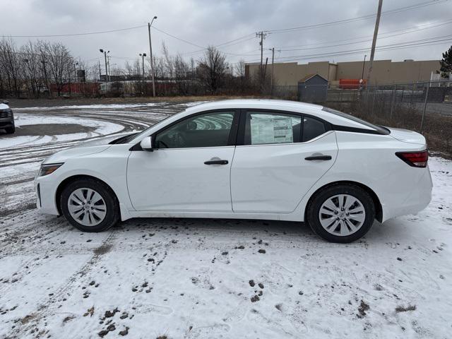
[[[89,118],[116,133],[108,124],[141,129],[181,107],[16,115],[84,127]],[[7,142],[0,136],[0,338],[450,338],[448,160],[429,160],[426,210],[344,245],[263,220],[135,219],[79,232],[36,213],[32,190],[39,160],[76,141]]]

